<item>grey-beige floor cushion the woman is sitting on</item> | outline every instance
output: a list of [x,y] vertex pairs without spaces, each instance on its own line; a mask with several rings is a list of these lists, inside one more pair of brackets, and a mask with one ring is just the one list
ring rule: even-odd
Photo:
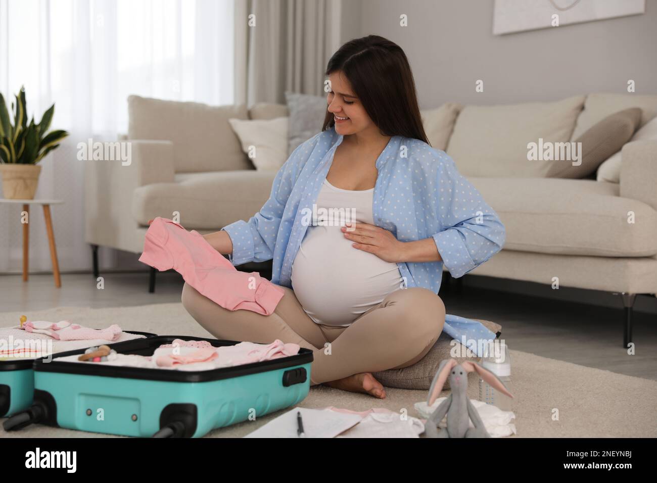
[[[473,320],[480,321],[486,329],[495,334],[502,330],[502,326],[494,322],[481,319]],[[436,340],[436,344],[415,364],[409,365],[409,367],[402,367],[401,369],[379,371],[372,373],[372,375],[374,379],[389,388],[429,390],[431,382],[434,380],[434,375],[438,371],[440,361],[443,359],[454,358],[459,363],[468,360],[474,362],[480,361],[480,357],[477,357],[474,352],[467,348],[463,348],[466,357],[451,357],[451,341],[452,338],[443,332],[438,337],[438,340]],[[457,344],[459,343],[457,342]],[[476,373],[468,374],[468,384],[476,384],[476,380]],[[445,381],[444,389],[449,389],[449,379]]]

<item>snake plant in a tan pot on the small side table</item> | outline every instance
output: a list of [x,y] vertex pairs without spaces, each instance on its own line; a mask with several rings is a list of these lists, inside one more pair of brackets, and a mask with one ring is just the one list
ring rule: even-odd
[[43,113],[41,122],[28,124],[25,89],[14,95],[12,103],[13,124],[9,117],[5,98],[0,94],[0,175],[5,198],[32,200],[37,191],[41,166],[37,163],[56,149],[68,136],[60,129],[48,131],[55,113],[55,104]]

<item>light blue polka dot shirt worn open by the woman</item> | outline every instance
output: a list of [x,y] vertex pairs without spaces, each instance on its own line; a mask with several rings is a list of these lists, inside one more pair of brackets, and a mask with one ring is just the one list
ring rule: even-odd
[[[307,229],[303,214],[312,210],[342,139],[331,128],[299,145],[277,172],[260,212],[223,227],[233,242],[233,265],[273,260],[271,281],[292,288],[292,262]],[[374,224],[399,241],[431,237],[442,258],[398,262],[407,287],[437,294],[443,264],[453,277],[462,277],[501,250],[504,225],[444,151],[419,139],[393,136],[376,160],[376,169]],[[478,321],[449,314],[443,331],[478,356],[481,343],[476,341],[495,338]]]

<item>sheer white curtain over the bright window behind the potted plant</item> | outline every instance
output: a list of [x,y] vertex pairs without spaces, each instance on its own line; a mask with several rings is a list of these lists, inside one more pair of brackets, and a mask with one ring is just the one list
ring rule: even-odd
[[[83,166],[76,145],[127,131],[129,94],[235,103],[234,0],[0,0],[0,91],[25,86],[28,114],[55,103],[70,136],[41,161],[36,198],[56,198],[62,271],[91,267],[84,242]],[[0,204],[0,273],[22,264],[20,206]],[[116,261],[101,250],[102,265]],[[30,213],[30,271],[50,271],[39,206]]]

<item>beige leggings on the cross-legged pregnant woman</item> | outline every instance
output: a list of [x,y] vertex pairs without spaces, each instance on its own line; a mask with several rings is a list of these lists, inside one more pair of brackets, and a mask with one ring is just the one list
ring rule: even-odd
[[285,294],[271,315],[227,310],[185,283],[185,309],[218,339],[269,344],[276,339],[313,351],[311,384],[357,373],[415,364],[432,348],[445,323],[445,306],[427,288],[400,288],[348,327],[317,324],[294,295]]

